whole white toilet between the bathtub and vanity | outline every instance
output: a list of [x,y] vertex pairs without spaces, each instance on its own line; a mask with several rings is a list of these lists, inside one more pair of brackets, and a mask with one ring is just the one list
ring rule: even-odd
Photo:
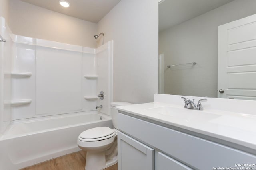
[[102,170],[117,163],[117,109],[115,106],[131,105],[128,102],[112,102],[114,129],[95,127],[83,131],[77,139],[80,149],[87,151],[85,170]]

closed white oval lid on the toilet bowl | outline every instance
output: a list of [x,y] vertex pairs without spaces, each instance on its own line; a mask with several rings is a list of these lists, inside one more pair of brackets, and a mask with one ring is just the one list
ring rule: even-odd
[[113,133],[114,133],[114,130],[110,129],[109,127],[95,127],[95,128],[83,131],[80,134],[80,138],[97,139],[97,138],[102,138],[102,137],[112,135]]

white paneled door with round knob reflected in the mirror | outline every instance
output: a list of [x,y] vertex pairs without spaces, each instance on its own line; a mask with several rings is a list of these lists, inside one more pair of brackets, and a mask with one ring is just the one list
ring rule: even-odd
[[256,14],[218,28],[218,98],[256,100]]

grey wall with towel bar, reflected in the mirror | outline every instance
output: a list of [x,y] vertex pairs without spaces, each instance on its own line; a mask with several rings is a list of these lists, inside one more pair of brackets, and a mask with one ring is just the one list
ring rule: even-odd
[[217,97],[218,26],[256,13],[256,0],[234,0],[159,33],[165,53],[165,93]]

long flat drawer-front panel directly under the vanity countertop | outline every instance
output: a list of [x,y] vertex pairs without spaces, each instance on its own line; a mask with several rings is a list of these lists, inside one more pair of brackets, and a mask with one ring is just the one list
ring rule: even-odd
[[256,156],[188,135],[180,131],[118,113],[118,128],[148,145],[164,151],[192,168],[235,167],[235,164],[255,164]]

